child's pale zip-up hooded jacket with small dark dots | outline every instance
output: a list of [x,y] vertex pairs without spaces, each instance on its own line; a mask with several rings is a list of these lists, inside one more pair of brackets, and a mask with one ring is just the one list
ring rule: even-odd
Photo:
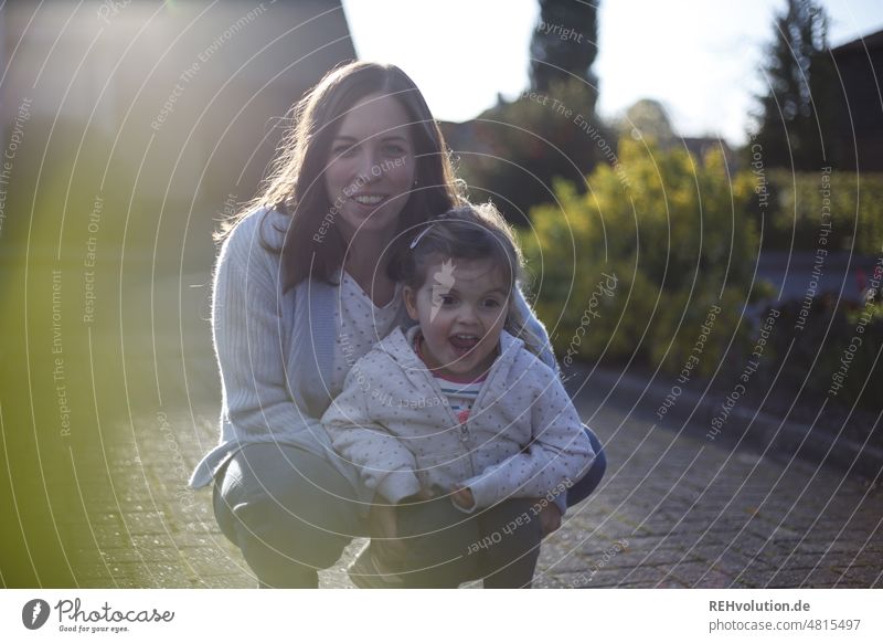
[[[595,454],[556,373],[503,331],[469,417],[460,422],[413,349],[393,330],[353,365],[322,417],[336,451],[391,503],[469,487],[471,510],[541,497],[576,482]],[[564,485],[564,486],[561,486]]]

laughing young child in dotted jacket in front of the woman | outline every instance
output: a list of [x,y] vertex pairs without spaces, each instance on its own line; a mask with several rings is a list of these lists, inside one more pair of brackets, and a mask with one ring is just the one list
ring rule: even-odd
[[555,372],[515,337],[518,245],[492,207],[457,208],[423,226],[397,268],[417,324],[355,362],[322,418],[385,526],[351,577],[529,587],[541,531],[526,498],[573,484],[594,452]]

